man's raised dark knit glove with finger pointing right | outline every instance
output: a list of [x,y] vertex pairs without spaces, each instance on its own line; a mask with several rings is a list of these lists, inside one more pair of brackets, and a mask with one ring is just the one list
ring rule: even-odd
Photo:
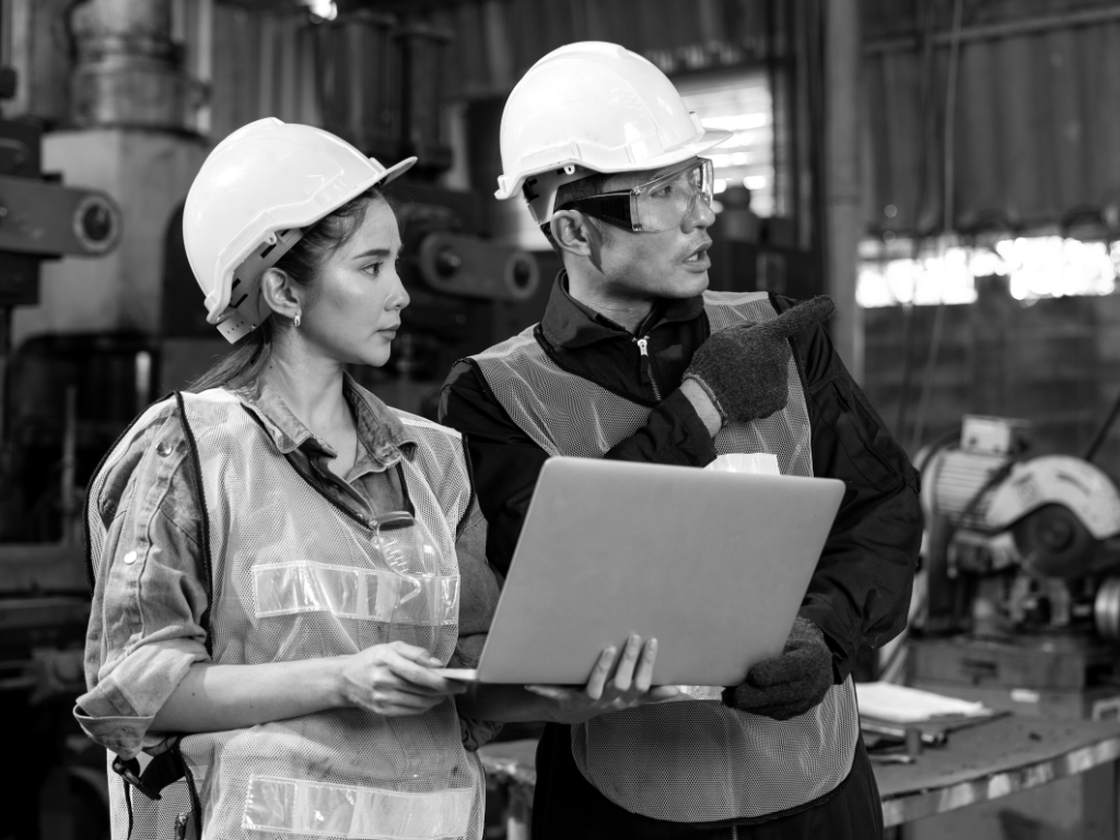
[[832,298],[821,295],[773,320],[712,333],[692,356],[684,379],[704,390],[725,423],[769,417],[785,408],[790,336],[828,320],[833,309]]

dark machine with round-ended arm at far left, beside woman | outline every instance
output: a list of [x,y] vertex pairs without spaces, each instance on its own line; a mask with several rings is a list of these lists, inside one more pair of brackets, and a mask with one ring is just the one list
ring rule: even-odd
[[[15,78],[0,69],[0,97]],[[13,721],[7,745],[22,756],[9,773],[13,808],[6,832],[16,838],[96,838],[108,829],[100,755],[87,749],[71,713],[83,690],[82,650],[90,615],[74,487],[77,391],[46,375],[29,342],[13,357],[11,316],[38,302],[39,264],[63,254],[100,256],[115,248],[121,212],[108,195],[67,187],[41,171],[41,129],[0,120],[0,712]],[[28,362],[25,364],[24,362]],[[28,389],[55,411],[22,422]],[[40,801],[46,803],[40,808]]]

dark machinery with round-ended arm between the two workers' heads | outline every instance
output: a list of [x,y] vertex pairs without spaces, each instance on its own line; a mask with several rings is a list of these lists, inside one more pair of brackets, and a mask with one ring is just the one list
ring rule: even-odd
[[317,31],[324,128],[379,160],[418,158],[390,189],[402,205],[400,271],[411,302],[389,366],[360,379],[388,402],[430,414],[457,360],[536,320],[547,283],[535,255],[491,237],[493,199],[437,185],[452,162],[440,93],[451,34],[347,6],[357,8],[340,7]]

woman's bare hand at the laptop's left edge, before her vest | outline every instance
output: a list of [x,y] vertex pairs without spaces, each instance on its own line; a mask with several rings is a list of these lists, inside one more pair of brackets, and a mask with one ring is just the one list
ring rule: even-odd
[[440,665],[423,647],[404,642],[367,647],[343,664],[343,700],[376,715],[419,715],[466,690],[465,683],[432,672]]

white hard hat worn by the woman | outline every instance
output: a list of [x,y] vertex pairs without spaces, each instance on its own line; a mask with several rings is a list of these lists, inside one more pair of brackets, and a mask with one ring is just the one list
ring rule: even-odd
[[346,141],[310,125],[268,116],[230,134],[207,156],[183,211],[183,241],[206,292],[206,320],[231,344],[270,310],[260,279],[315,224],[377,184],[388,169]]

